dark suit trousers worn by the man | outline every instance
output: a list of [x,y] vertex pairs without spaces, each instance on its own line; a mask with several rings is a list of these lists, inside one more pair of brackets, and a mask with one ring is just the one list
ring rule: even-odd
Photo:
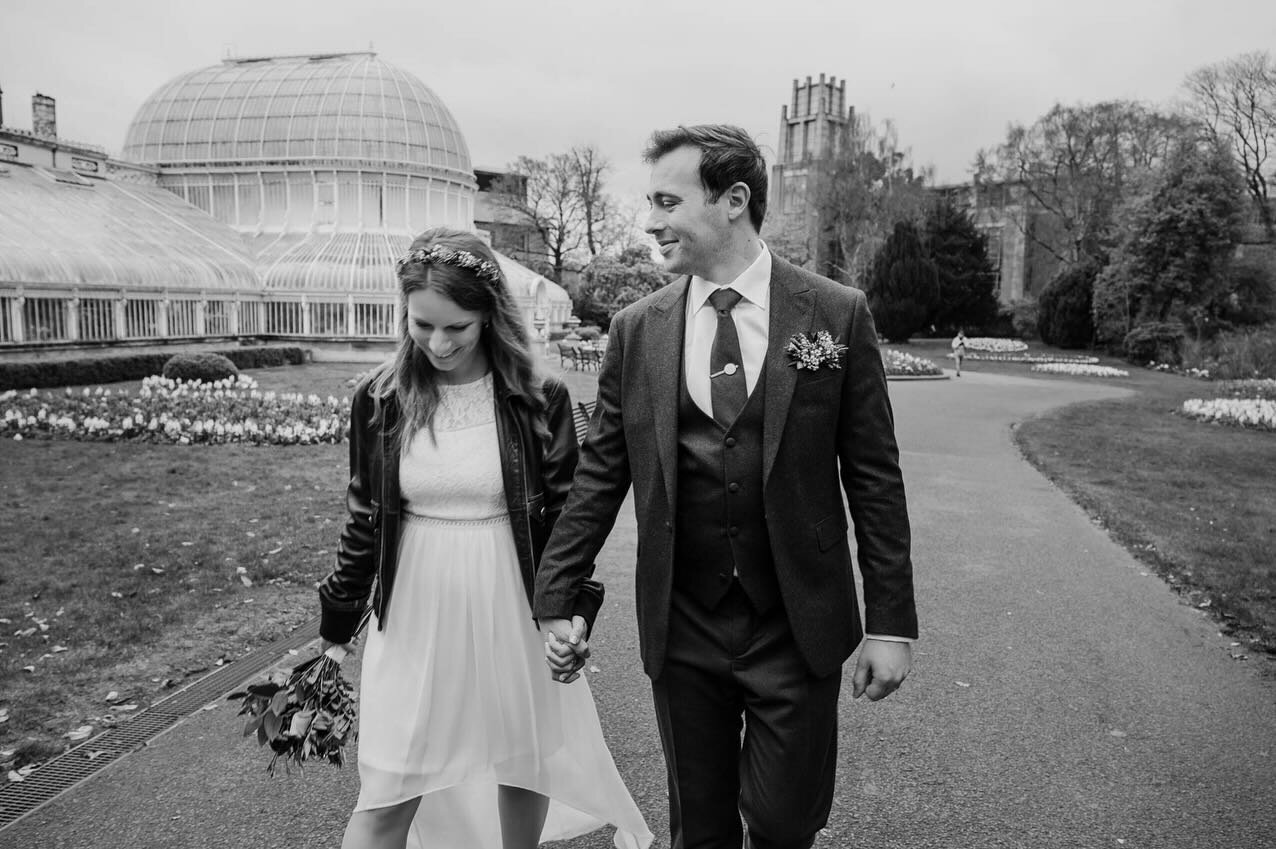
[[[783,606],[739,583],[712,610],[674,590],[652,682],[669,767],[672,849],[806,849],[828,822],[841,670],[814,678]],[[740,732],[744,730],[741,740]]]

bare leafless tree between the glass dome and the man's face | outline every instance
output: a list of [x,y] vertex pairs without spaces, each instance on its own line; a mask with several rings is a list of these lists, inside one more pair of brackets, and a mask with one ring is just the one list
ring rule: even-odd
[[554,153],[544,160],[521,156],[509,171],[522,179],[496,180],[493,199],[521,213],[536,229],[549,250],[555,280],[563,280],[564,269],[579,271],[572,255],[583,241],[584,209],[574,157],[569,153]]

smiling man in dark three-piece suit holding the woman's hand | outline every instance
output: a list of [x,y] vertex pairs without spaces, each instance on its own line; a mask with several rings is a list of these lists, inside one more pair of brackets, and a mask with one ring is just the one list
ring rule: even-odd
[[568,619],[632,484],[672,845],[805,849],[832,806],[843,661],[866,628],[852,689],[882,698],[917,636],[877,332],[863,292],[759,239],[767,170],[744,130],[657,131],[646,160],[647,232],[684,277],[612,320],[535,614],[573,679],[588,649]]

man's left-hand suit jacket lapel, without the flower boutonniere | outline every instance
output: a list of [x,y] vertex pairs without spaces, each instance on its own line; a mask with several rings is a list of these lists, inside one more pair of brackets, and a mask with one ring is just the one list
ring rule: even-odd
[[678,485],[678,392],[681,386],[683,345],[686,331],[686,291],[690,277],[664,290],[647,313],[642,355],[647,361],[651,415],[656,434],[656,457],[665,477],[665,494],[672,507]]

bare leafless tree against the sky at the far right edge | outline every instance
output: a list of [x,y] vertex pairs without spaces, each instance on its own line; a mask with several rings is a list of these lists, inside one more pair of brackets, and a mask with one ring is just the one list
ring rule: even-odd
[[1267,51],[1243,54],[1206,65],[1183,83],[1189,112],[1215,140],[1236,156],[1245,188],[1267,235],[1273,235],[1272,211],[1263,170],[1276,148],[1276,61]]

